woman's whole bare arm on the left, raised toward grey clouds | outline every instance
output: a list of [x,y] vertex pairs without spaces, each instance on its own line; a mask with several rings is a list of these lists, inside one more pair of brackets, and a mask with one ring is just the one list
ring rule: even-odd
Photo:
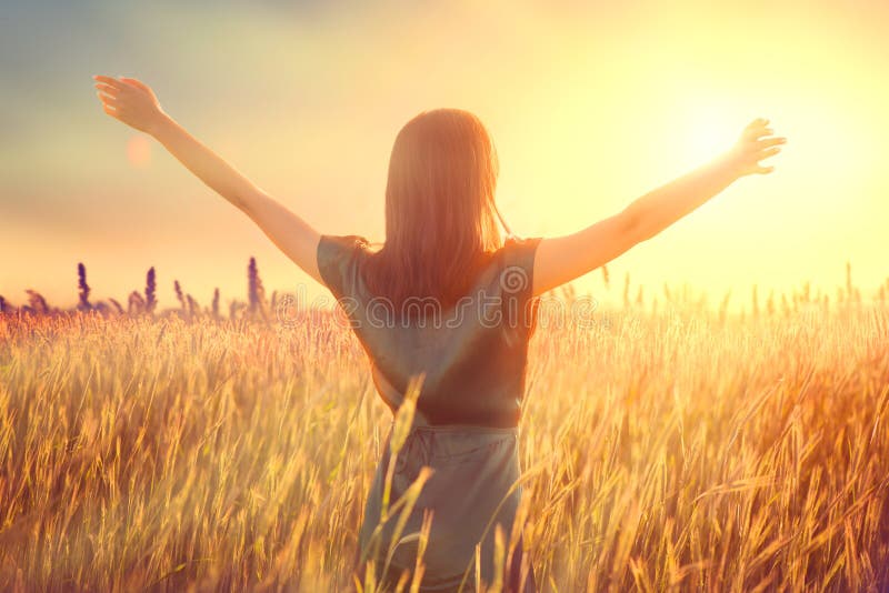
[[318,231],[169,117],[148,84],[131,78],[93,79],[106,113],[153,135],[189,171],[250,217],[306,273],[322,282],[317,260]]

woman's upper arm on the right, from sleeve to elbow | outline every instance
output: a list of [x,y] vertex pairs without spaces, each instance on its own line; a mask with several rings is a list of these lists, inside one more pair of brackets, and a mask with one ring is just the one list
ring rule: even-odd
[[613,260],[645,235],[627,211],[573,234],[543,239],[537,248],[533,294],[542,294]]

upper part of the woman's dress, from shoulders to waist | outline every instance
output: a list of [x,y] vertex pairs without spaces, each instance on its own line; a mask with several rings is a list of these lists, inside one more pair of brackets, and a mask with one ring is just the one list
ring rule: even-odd
[[[431,298],[409,299],[397,308],[364,284],[367,239],[321,235],[319,272],[368,354],[377,390],[390,409],[400,405],[411,376],[424,373],[417,402],[424,424],[518,424],[537,316],[531,290],[539,242],[508,238],[470,292],[448,309]],[[423,314],[404,321],[400,313],[410,308]]]

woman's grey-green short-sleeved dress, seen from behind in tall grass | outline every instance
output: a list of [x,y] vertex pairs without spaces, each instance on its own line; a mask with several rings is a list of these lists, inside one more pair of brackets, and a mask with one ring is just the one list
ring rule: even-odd
[[[378,582],[393,582],[414,566],[424,512],[431,512],[422,556],[421,591],[472,591],[476,547],[481,579],[495,575],[495,525],[509,543],[522,484],[518,456],[528,340],[535,330],[531,298],[539,238],[510,238],[478,273],[472,290],[450,308],[434,300],[410,301],[423,315],[406,321],[398,309],[369,293],[361,264],[369,257],[358,235],[322,235],[318,268],[338,299],[370,359],[377,390],[394,412],[411,378],[422,374],[413,423],[401,451],[390,460],[392,430],[377,466],[359,532],[357,560],[372,559]],[[418,478],[431,476],[412,509],[380,524],[384,479],[392,471],[390,505]],[[393,539],[399,521],[400,537]],[[520,530],[518,533],[521,533]],[[406,536],[408,536],[406,539]],[[519,585],[522,542],[505,566],[505,591],[536,591],[530,565]],[[389,552],[389,553],[387,553]],[[388,572],[381,571],[388,560]],[[528,559],[525,560],[526,564]],[[363,575],[363,563],[357,573]]]

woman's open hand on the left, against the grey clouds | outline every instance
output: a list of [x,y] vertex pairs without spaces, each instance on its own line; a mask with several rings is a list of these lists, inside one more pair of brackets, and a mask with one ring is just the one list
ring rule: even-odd
[[151,87],[134,78],[92,77],[106,113],[127,125],[153,134],[167,117]]

